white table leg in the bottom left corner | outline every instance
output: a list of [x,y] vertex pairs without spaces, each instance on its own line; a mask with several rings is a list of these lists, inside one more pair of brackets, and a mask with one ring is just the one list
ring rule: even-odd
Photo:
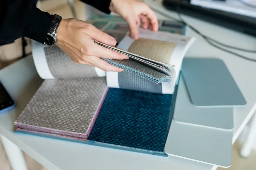
[[4,150],[13,170],[28,170],[22,151],[3,135],[0,135]]

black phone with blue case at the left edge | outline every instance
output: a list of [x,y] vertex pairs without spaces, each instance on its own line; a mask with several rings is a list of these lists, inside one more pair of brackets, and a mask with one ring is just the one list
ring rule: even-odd
[[13,109],[14,107],[15,103],[13,99],[0,82],[0,114]]

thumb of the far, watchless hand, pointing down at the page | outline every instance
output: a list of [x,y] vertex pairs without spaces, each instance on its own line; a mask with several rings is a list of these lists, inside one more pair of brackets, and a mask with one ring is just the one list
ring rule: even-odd
[[128,23],[131,37],[135,40],[138,39],[139,32],[138,32],[137,22],[140,21],[139,17],[138,16],[128,16],[125,20]]

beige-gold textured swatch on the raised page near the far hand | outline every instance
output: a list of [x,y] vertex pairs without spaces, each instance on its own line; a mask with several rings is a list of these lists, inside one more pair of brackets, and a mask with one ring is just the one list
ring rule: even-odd
[[127,51],[169,64],[176,45],[177,44],[173,42],[139,38],[132,42]]

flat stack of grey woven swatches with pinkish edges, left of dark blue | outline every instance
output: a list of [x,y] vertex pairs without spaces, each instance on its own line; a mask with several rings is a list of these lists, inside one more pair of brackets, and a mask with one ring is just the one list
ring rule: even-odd
[[106,95],[106,78],[45,80],[16,127],[87,137]]

